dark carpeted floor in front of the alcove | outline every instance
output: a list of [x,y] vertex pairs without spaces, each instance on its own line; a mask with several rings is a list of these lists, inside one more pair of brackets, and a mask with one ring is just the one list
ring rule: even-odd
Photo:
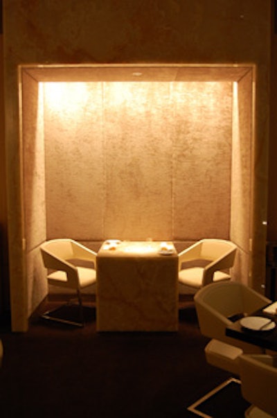
[[[1,418],[195,417],[186,408],[230,376],[206,363],[193,302],[177,333],[97,333],[89,309],[84,328],[34,317],[27,333],[0,338]],[[229,417],[228,400],[217,417]],[[235,403],[242,418],[239,392]]]

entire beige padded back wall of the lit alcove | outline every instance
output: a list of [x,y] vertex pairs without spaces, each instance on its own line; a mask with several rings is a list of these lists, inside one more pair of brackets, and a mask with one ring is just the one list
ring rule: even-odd
[[229,238],[231,82],[44,83],[47,238]]

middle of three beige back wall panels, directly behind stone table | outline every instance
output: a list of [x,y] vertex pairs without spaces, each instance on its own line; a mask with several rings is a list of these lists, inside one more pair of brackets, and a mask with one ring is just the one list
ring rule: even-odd
[[172,236],[169,83],[105,85],[105,237]]

